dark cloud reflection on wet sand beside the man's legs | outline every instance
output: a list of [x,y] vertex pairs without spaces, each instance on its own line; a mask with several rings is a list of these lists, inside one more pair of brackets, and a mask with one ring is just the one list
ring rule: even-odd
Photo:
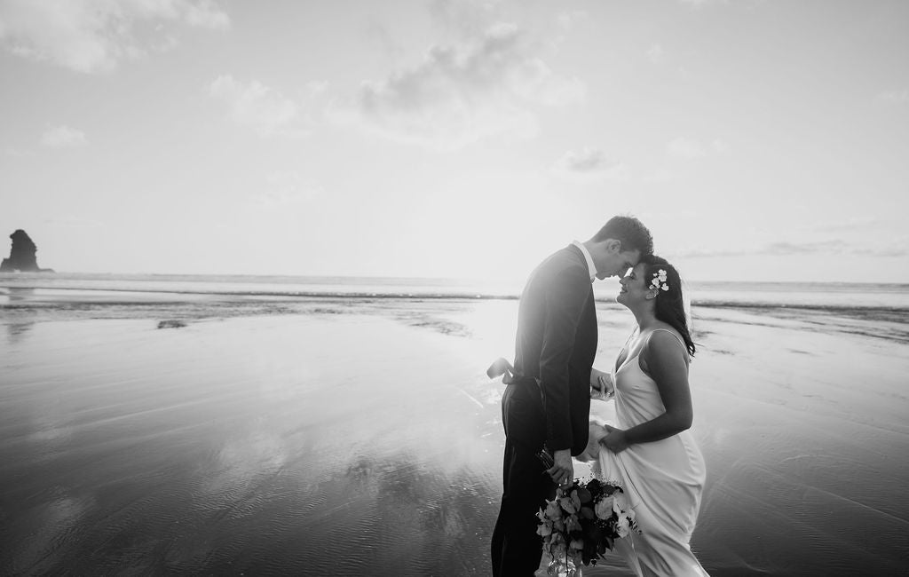
[[[314,572],[483,574],[482,528],[494,522],[483,476],[444,473],[414,454],[360,456],[343,476],[312,487],[313,510],[299,529],[315,553]],[[325,503],[336,503],[325,506]],[[314,541],[315,537],[315,541]],[[323,556],[318,552],[343,551]],[[454,570],[454,568],[457,568]]]

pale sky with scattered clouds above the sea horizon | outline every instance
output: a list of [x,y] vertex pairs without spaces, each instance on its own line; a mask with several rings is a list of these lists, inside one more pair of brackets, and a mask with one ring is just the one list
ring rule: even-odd
[[0,253],[524,278],[614,214],[694,281],[909,283],[909,2],[0,0]]

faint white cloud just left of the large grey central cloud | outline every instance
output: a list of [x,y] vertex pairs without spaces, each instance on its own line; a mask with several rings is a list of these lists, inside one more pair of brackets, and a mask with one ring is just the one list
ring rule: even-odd
[[[321,85],[312,85],[320,91]],[[231,118],[263,136],[305,135],[299,106],[290,98],[257,80],[242,83],[231,75],[218,76],[208,94],[227,104]]]

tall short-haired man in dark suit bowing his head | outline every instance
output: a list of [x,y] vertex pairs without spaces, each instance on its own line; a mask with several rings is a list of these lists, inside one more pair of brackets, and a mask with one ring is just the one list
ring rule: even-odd
[[[534,574],[543,552],[535,513],[553,498],[556,483],[574,479],[572,455],[587,444],[594,278],[622,275],[653,249],[644,224],[614,216],[590,240],[546,258],[524,286],[514,376],[506,375],[502,395],[504,492],[493,530],[494,577]],[[544,465],[548,455],[554,463]]]

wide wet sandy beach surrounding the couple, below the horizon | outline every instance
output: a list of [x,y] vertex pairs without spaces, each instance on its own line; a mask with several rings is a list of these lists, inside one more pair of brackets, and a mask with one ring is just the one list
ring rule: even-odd
[[[489,574],[514,299],[0,296],[0,573]],[[906,312],[693,316],[704,568],[907,574]]]

